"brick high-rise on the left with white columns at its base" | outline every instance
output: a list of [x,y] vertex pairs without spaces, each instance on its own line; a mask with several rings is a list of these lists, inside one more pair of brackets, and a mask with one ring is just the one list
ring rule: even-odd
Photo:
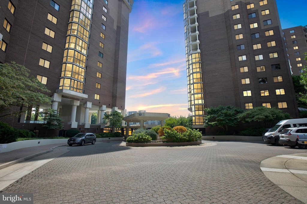
[[[0,62],[15,61],[51,92],[65,130],[90,116],[125,111],[129,13],[133,0],[1,0]],[[31,110],[32,107],[23,107]],[[40,109],[48,107],[40,106]],[[31,112],[31,111],[30,111]],[[22,115],[13,127],[38,130]],[[103,124],[101,125],[103,127]],[[97,127],[98,129],[98,127]]]

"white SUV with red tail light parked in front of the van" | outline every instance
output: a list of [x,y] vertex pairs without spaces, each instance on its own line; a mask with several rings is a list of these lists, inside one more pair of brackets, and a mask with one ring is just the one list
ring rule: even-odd
[[301,145],[297,143],[297,134],[302,133],[307,133],[307,127],[294,127],[284,129],[279,134],[279,142],[280,144],[288,145],[289,147],[295,147],[296,145],[300,147]]

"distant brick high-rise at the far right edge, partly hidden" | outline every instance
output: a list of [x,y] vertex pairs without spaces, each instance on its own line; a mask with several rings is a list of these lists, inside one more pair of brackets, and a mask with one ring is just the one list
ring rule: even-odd
[[286,53],[294,75],[300,75],[306,65],[304,53],[307,52],[307,25],[282,29]]

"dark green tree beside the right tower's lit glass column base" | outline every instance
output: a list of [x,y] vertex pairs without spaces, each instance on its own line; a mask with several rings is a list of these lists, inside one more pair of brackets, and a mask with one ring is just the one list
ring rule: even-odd
[[218,126],[226,132],[229,126],[236,126],[238,124],[236,116],[243,112],[241,108],[231,105],[205,108],[205,111],[207,115],[204,116],[204,126]]

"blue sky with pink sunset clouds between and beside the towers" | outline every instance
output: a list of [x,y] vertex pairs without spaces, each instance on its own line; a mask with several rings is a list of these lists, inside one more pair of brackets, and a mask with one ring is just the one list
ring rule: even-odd
[[[204,0],[202,0],[204,1]],[[185,116],[188,92],[179,0],[134,0],[129,17],[126,110]],[[276,0],[282,29],[307,25],[306,0]]]

